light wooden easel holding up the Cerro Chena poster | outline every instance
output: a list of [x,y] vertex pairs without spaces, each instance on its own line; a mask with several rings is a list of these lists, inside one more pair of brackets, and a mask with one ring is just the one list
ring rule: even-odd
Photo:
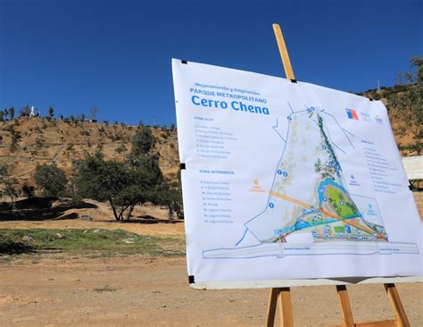
[[[275,32],[275,37],[278,42],[279,53],[282,58],[282,64],[285,69],[286,79],[296,81],[294,77],[294,71],[291,66],[291,61],[289,60],[288,51],[286,50],[286,44],[284,37],[282,36],[282,30],[278,24],[273,24],[273,31]],[[395,288],[394,283],[386,283],[385,289],[389,302],[394,310],[395,319],[394,320],[385,320],[379,322],[369,322],[369,323],[354,323],[354,318],[352,316],[352,309],[350,306],[350,299],[348,298],[348,293],[346,291],[345,285],[336,285],[336,292],[339,298],[339,304],[342,309],[343,314],[343,324],[339,326],[343,327],[408,327],[411,326],[405,310],[402,306],[400,296]],[[293,327],[294,326],[294,314],[293,306],[291,301],[291,289],[288,287],[285,288],[274,288],[270,289],[269,297],[269,306],[267,312],[267,323],[268,327],[271,327],[275,323],[276,307],[279,299],[279,315],[281,326],[283,327]]]

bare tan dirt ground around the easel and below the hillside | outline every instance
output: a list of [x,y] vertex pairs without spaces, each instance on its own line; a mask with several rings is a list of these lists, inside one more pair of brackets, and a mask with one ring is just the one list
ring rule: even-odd
[[[420,215],[422,195],[416,197]],[[140,235],[184,234],[183,222],[106,219],[0,222],[0,228],[120,228]],[[348,289],[356,322],[394,318],[383,285]],[[423,285],[398,284],[397,289],[411,325],[423,326]],[[342,323],[335,287],[293,288],[292,293],[295,326]],[[0,263],[0,326],[263,326],[268,296],[269,289],[190,289],[185,258],[57,254]]]

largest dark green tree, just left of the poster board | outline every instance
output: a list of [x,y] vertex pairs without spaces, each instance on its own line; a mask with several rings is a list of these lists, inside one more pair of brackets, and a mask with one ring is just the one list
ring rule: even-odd
[[74,162],[72,185],[78,197],[107,201],[117,221],[129,219],[135,205],[150,202],[167,205],[169,192],[152,154],[155,139],[151,130],[140,127],[128,159],[123,163],[104,160],[96,154]]

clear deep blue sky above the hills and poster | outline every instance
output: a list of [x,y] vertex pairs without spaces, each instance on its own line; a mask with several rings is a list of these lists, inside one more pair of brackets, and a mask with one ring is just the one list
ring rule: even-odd
[[170,58],[345,91],[394,85],[423,55],[422,1],[0,0],[0,109],[175,122]]

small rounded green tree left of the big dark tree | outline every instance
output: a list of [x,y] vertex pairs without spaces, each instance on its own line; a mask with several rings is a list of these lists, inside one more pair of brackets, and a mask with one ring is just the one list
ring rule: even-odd
[[34,174],[37,187],[43,197],[62,197],[65,195],[68,180],[56,164],[38,164]]

